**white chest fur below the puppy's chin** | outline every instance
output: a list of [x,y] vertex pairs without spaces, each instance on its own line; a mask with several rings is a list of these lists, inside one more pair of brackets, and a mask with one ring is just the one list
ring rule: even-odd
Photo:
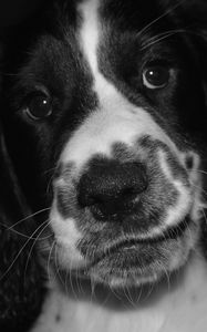
[[156,286],[134,305],[128,301],[122,308],[116,307],[121,299],[114,297],[113,302],[112,293],[100,302],[95,294],[84,295],[83,289],[75,298],[53,286],[32,332],[206,331],[207,263],[196,256],[175,279],[169,287]]

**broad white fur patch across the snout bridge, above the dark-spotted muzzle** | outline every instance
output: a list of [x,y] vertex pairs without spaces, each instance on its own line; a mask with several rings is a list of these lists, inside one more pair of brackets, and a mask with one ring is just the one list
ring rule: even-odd
[[114,143],[134,146],[138,138],[148,134],[147,128],[151,128],[153,138],[168,142],[172,149],[176,151],[173,142],[147,112],[133,107],[126,101],[116,103],[114,100],[110,108],[102,106],[87,116],[65,145],[60,159],[63,164],[72,162],[81,169],[94,154],[110,156]]

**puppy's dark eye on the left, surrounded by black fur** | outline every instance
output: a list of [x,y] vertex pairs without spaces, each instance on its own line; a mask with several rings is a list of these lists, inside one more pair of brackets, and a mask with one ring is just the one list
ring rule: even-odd
[[52,114],[51,97],[42,92],[35,92],[28,96],[24,113],[31,120],[41,120]]

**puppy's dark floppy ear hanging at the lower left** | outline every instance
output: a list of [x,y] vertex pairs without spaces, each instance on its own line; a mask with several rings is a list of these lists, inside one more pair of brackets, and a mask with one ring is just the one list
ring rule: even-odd
[[[30,215],[0,126],[0,330],[28,331],[43,300],[43,273]],[[15,225],[17,224],[17,225]]]

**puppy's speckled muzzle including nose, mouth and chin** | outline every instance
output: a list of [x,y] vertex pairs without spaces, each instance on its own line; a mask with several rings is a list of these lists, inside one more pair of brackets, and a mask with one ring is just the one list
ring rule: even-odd
[[51,225],[61,267],[138,284],[186,261],[198,235],[195,169],[146,141],[133,149],[116,143],[111,157],[95,154],[81,172],[73,163],[60,166]]

